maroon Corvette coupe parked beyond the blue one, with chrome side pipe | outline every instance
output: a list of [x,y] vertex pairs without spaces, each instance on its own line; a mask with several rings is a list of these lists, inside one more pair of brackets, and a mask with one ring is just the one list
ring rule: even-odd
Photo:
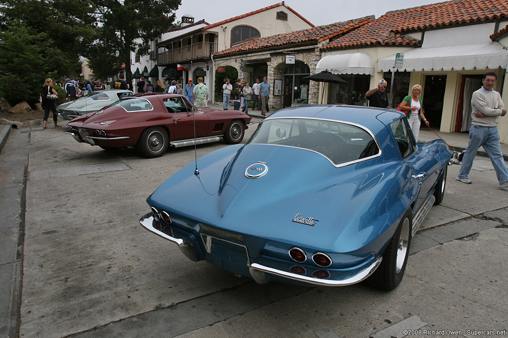
[[[147,158],[169,146],[240,143],[250,117],[237,110],[196,108],[182,95],[140,94],[69,122],[67,134],[103,149],[135,146]],[[196,137],[194,135],[196,128]]]

